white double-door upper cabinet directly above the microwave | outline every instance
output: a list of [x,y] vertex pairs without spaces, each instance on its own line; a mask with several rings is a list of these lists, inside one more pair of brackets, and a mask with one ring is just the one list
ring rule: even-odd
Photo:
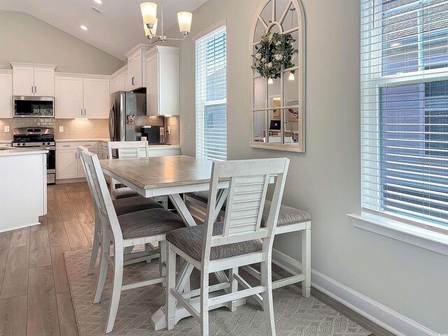
[[15,96],[55,96],[55,65],[10,62]]

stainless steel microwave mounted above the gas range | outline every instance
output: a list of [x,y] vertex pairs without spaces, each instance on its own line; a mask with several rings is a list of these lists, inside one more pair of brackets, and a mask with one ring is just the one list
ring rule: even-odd
[[14,96],[14,118],[55,118],[54,97]]

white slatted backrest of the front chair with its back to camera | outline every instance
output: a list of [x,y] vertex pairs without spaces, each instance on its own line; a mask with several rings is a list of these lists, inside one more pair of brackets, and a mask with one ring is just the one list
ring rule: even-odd
[[[238,160],[214,162],[209,190],[207,225],[203,246],[203,260],[208,260],[211,246],[249,241],[260,237],[272,239],[276,226],[281,196],[288,172],[287,158]],[[269,211],[268,225],[260,228],[269,181],[276,176],[274,197]],[[223,222],[223,233],[212,236],[215,218],[218,182],[229,179],[227,204]],[[264,232],[261,232],[264,231]],[[272,241],[271,243],[272,244]]]

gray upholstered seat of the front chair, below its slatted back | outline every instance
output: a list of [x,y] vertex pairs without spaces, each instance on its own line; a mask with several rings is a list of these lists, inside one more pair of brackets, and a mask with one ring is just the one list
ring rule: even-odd
[[[213,235],[223,234],[223,223],[215,223]],[[166,239],[182,251],[195,258],[202,259],[202,243],[204,241],[204,225],[197,225],[167,233]],[[235,257],[246,253],[261,251],[260,239],[243,241],[241,243],[214,246],[210,251],[210,260]]]

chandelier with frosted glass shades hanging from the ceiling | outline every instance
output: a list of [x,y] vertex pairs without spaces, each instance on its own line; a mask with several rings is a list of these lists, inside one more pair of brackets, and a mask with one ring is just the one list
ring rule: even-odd
[[140,9],[141,9],[141,16],[143,17],[145,34],[146,37],[148,37],[150,43],[155,43],[158,41],[167,41],[167,40],[182,41],[183,39],[186,38],[188,33],[190,33],[191,19],[193,18],[193,14],[190,12],[177,13],[177,21],[179,22],[179,30],[181,31],[182,38],[168,38],[164,34],[164,27],[163,27],[163,0],[160,1],[160,15],[161,15],[160,35],[157,35],[157,26],[158,26],[157,3],[153,2],[141,3]]

